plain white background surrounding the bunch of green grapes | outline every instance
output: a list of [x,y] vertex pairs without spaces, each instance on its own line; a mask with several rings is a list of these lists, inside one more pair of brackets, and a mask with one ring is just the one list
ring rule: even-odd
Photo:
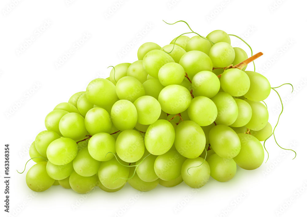
[[[5,143],[10,144],[11,216],[306,215],[306,1],[76,0],[68,4],[65,0],[29,0],[16,6],[12,2],[0,3],[1,216],[9,216],[3,211]],[[114,4],[119,8],[112,12]],[[111,15],[106,17],[107,13]],[[38,194],[31,191],[25,183],[26,173],[18,174],[16,169],[23,170],[29,160],[28,148],[37,133],[45,129],[45,116],[58,103],[83,91],[92,79],[109,77],[108,66],[136,61],[143,43],[152,41],[164,46],[189,31],[184,23],[169,26],[162,19],[185,20],[204,36],[216,29],[243,36],[254,53],[264,53],[255,61],[257,72],[266,76],[272,87],[292,83],[295,88],[292,94],[290,86],[278,89],[285,99],[285,109],[276,137],[285,148],[295,146],[296,159],[292,160],[293,152],[283,151],[271,138],[266,144],[270,153],[266,164],[254,171],[238,168],[227,183],[210,178],[199,191],[185,183],[172,188],[158,186],[144,193],[129,184],[115,193],[95,189],[88,195],[60,186]],[[38,33],[44,23],[47,28]],[[146,30],[146,26],[152,27]],[[146,33],[141,36],[142,31]],[[74,44],[84,34],[90,36],[76,49]],[[31,37],[34,40],[25,45]],[[119,57],[133,40],[136,44]],[[231,40],[233,46],[245,49],[250,56],[245,44],[234,37]],[[17,52],[24,45],[25,50]],[[57,68],[55,63],[70,49],[74,53]],[[248,67],[252,70],[251,65]],[[34,90],[36,85],[39,88]],[[16,111],[10,112],[21,100]],[[273,91],[266,103],[269,121],[274,125],[281,109]],[[7,112],[13,114],[8,116]],[[27,165],[26,171],[32,165]],[[293,202],[287,205],[292,197]]]

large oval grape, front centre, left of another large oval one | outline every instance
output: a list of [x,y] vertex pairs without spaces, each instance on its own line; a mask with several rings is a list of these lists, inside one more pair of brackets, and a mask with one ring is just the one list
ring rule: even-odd
[[161,155],[172,147],[174,140],[173,125],[167,120],[157,120],[146,131],[145,146],[151,154]]

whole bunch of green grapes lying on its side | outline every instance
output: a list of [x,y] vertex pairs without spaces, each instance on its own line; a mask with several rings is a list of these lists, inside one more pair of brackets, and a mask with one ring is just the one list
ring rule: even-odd
[[[245,71],[247,53],[215,30],[147,42],[138,60],[113,67],[45,118],[29,154],[33,191],[52,185],[87,193],[95,186],[140,191],[158,184],[204,186],[231,180],[264,160],[260,141],[272,133],[265,100],[269,81]],[[241,64],[240,64],[241,63]]]

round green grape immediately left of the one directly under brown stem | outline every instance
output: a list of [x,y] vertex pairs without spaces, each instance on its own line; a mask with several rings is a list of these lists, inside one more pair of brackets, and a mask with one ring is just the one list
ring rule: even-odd
[[201,71],[193,77],[192,89],[194,97],[211,98],[219,92],[220,80],[213,72]]

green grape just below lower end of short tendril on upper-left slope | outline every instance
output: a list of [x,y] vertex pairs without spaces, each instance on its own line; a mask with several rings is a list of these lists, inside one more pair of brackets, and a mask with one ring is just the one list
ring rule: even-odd
[[138,98],[145,96],[145,89],[138,79],[125,76],[116,84],[116,94],[120,100],[129,100],[132,103]]

